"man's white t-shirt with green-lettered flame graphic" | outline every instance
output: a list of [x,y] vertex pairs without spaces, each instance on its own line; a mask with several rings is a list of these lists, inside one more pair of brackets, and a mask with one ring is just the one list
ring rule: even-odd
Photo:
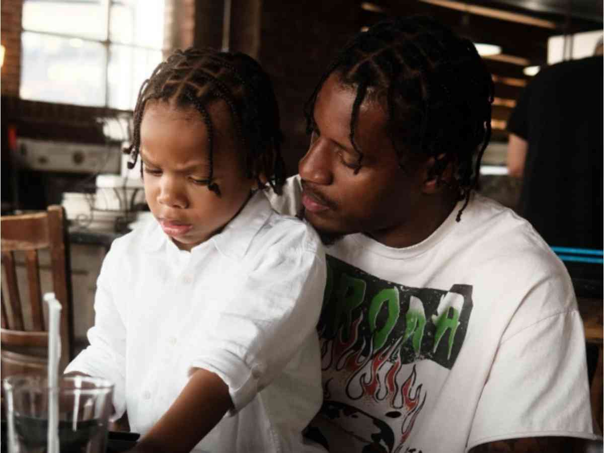
[[[300,208],[288,180],[273,207]],[[423,242],[351,234],[327,248],[324,403],[332,452],[464,452],[535,436],[594,439],[585,336],[568,273],[524,219],[472,196]],[[373,447],[374,449],[371,449]]]

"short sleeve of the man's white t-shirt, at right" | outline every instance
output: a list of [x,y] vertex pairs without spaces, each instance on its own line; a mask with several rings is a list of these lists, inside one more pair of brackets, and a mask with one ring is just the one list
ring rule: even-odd
[[593,435],[579,312],[550,315],[507,338],[478,402],[467,449],[519,437]]

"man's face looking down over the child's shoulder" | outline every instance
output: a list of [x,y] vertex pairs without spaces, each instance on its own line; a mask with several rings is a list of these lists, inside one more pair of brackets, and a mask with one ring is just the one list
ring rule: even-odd
[[386,245],[400,246],[400,240],[392,239],[417,228],[421,217],[421,165],[406,162],[406,171],[400,168],[386,133],[387,113],[379,103],[365,101],[355,132],[363,159],[355,174],[358,153],[349,138],[355,96],[354,89],[339,83],[337,74],[318,94],[315,131],[298,168],[304,216],[321,233],[364,232]]

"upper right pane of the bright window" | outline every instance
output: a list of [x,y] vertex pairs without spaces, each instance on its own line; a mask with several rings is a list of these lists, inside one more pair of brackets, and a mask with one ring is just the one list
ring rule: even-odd
[[164,43],[164,0],[112,2],[109,40],[161,49]]

